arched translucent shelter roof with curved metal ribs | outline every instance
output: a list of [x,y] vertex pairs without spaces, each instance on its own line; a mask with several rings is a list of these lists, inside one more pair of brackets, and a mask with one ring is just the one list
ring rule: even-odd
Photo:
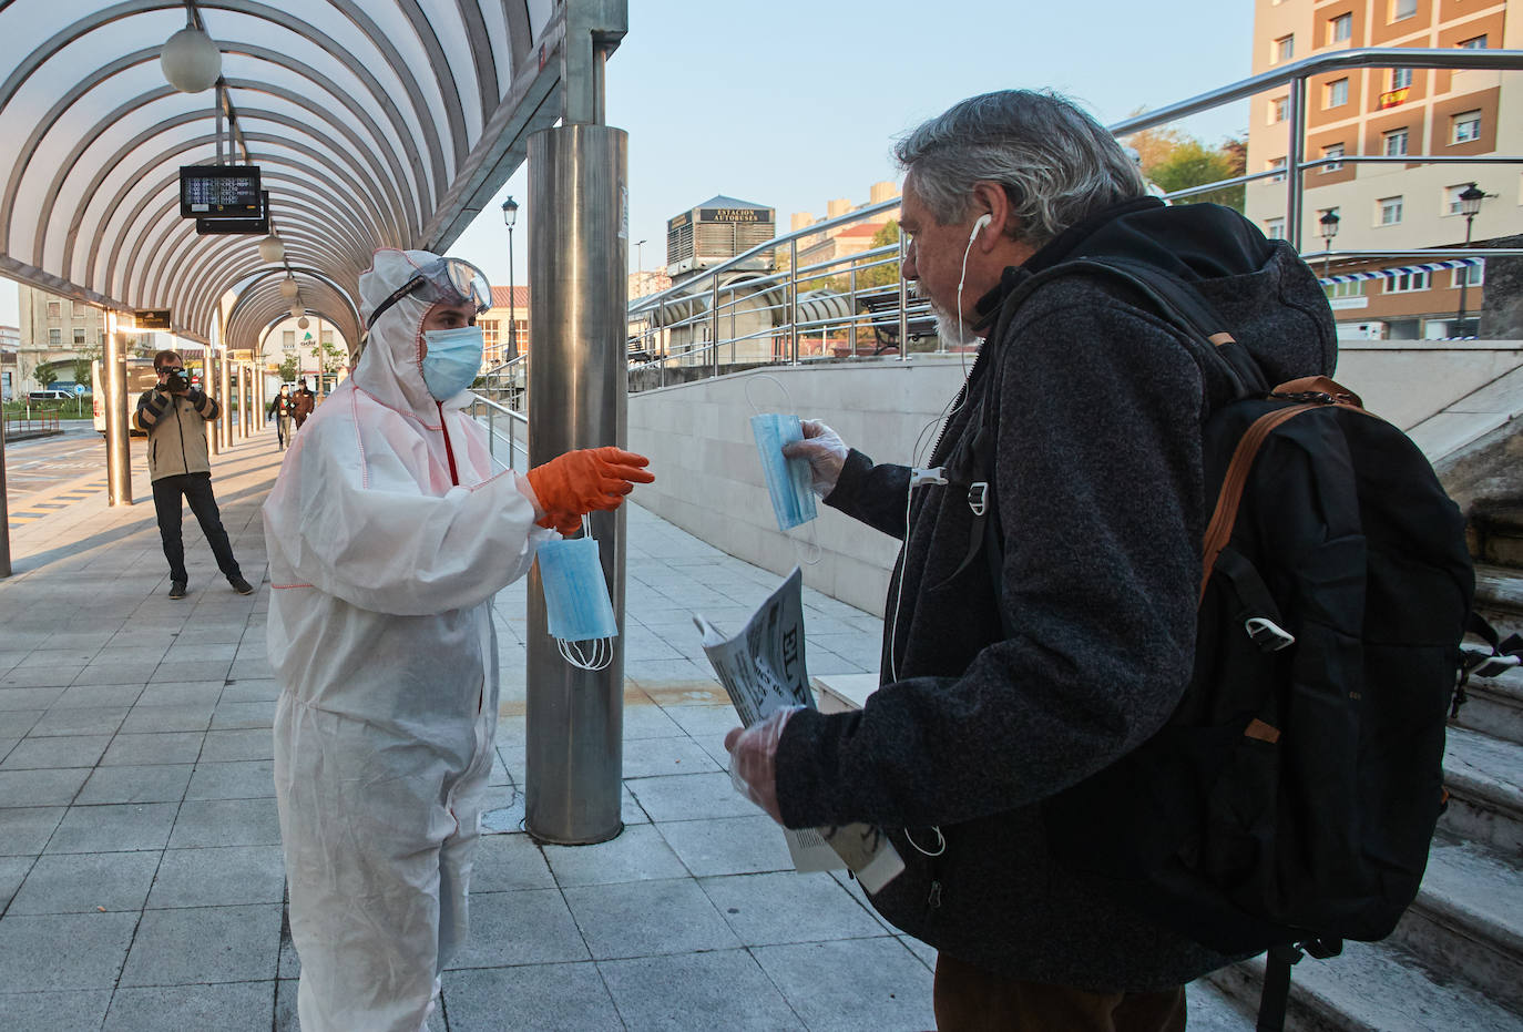
[[[187,21],[222,53],[195,94],[158,61]],[[203,341],[221,311],[231,347],[292,307],[355,341],[370,254],[446,248],[565,116],[567,41],[623,21],[624,0],[0,0],[0,274]],[[282,265],[180,216],[180,166],[219,152],[260,167]]]

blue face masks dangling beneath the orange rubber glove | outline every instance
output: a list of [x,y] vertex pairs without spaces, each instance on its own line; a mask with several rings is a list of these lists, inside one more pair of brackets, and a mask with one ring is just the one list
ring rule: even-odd
[[612,662],[618,623],[597,542],[588,536],[542,543],[539,581],[545,591],[545,621],[560,658],[582,670],[602,670]]

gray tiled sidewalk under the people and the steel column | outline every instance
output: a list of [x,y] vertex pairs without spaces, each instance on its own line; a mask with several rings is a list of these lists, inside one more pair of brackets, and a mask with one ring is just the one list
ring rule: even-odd
[[[142,458],[139,451],[137,458]],[[274,435],[216,466],[248,580]],[[140,467],[140,461],[137,463]],[[0,581],[0,1029],[295,1029],[297,957],[271,785],[268,583],[235,595],[186,519],[169,601],[146,476],[12,531]],[[850,880],[797,875],[730,787],[733,711],[690,613],[737,627],[778,577],[632,508],[626,831],[597,846],[483,839],[468,950],[431,1029],[929,1029],[921,944]],[[815,676],[871,671],[882,621],[806,592]],[[524,588],[498,600],[492,784],[524,775]],[[1214,1024],[1209,1000],[1193,1027]],[[1206,1011],[1200,1011],[1206,1008]],[[1205,1023],[1196,1021],[1205,1018]]]

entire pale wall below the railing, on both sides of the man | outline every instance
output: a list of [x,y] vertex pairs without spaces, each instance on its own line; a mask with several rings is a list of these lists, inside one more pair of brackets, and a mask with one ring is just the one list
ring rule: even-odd
[[[1442,423],[1432,417],[1456,403],[1464,408],[1462,399],[1520,368],[1518,341],[1406,341],[1395,347],[1389,341],[1345,341],[1337,379],[1357,391],[1369,411],[1410,429],[1426,420],[1426,426]],[[772,367],[631,394],[629,448],[650,457],[658,478],[635,499],[731,556],[786,574],[810,553],[777,530],[751,416],[821,419],[874,461],[918,466],[929,457],[941,412],[963,377],[958,358],[920,355],[911,362]],[[804,565],[804,583],[883,615],[899,542],[825,505],[819,505],[816,521],[792,531],[801,542],[810,533],[818,534],[821,560]]]

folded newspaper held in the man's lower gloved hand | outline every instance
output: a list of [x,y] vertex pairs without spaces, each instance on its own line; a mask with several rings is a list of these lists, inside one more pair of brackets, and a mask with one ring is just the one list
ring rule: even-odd
[[[702,616],[693,616],[704,635],[708,662],[746,728],[781,706],[815,705],[804,671],[803,583],[804,575],[795,566],[733,638]],[[871,825],[786,830],[784,836],[797,871],[850,868],[868,892],[877,892],[905,869],[899,851]]]

